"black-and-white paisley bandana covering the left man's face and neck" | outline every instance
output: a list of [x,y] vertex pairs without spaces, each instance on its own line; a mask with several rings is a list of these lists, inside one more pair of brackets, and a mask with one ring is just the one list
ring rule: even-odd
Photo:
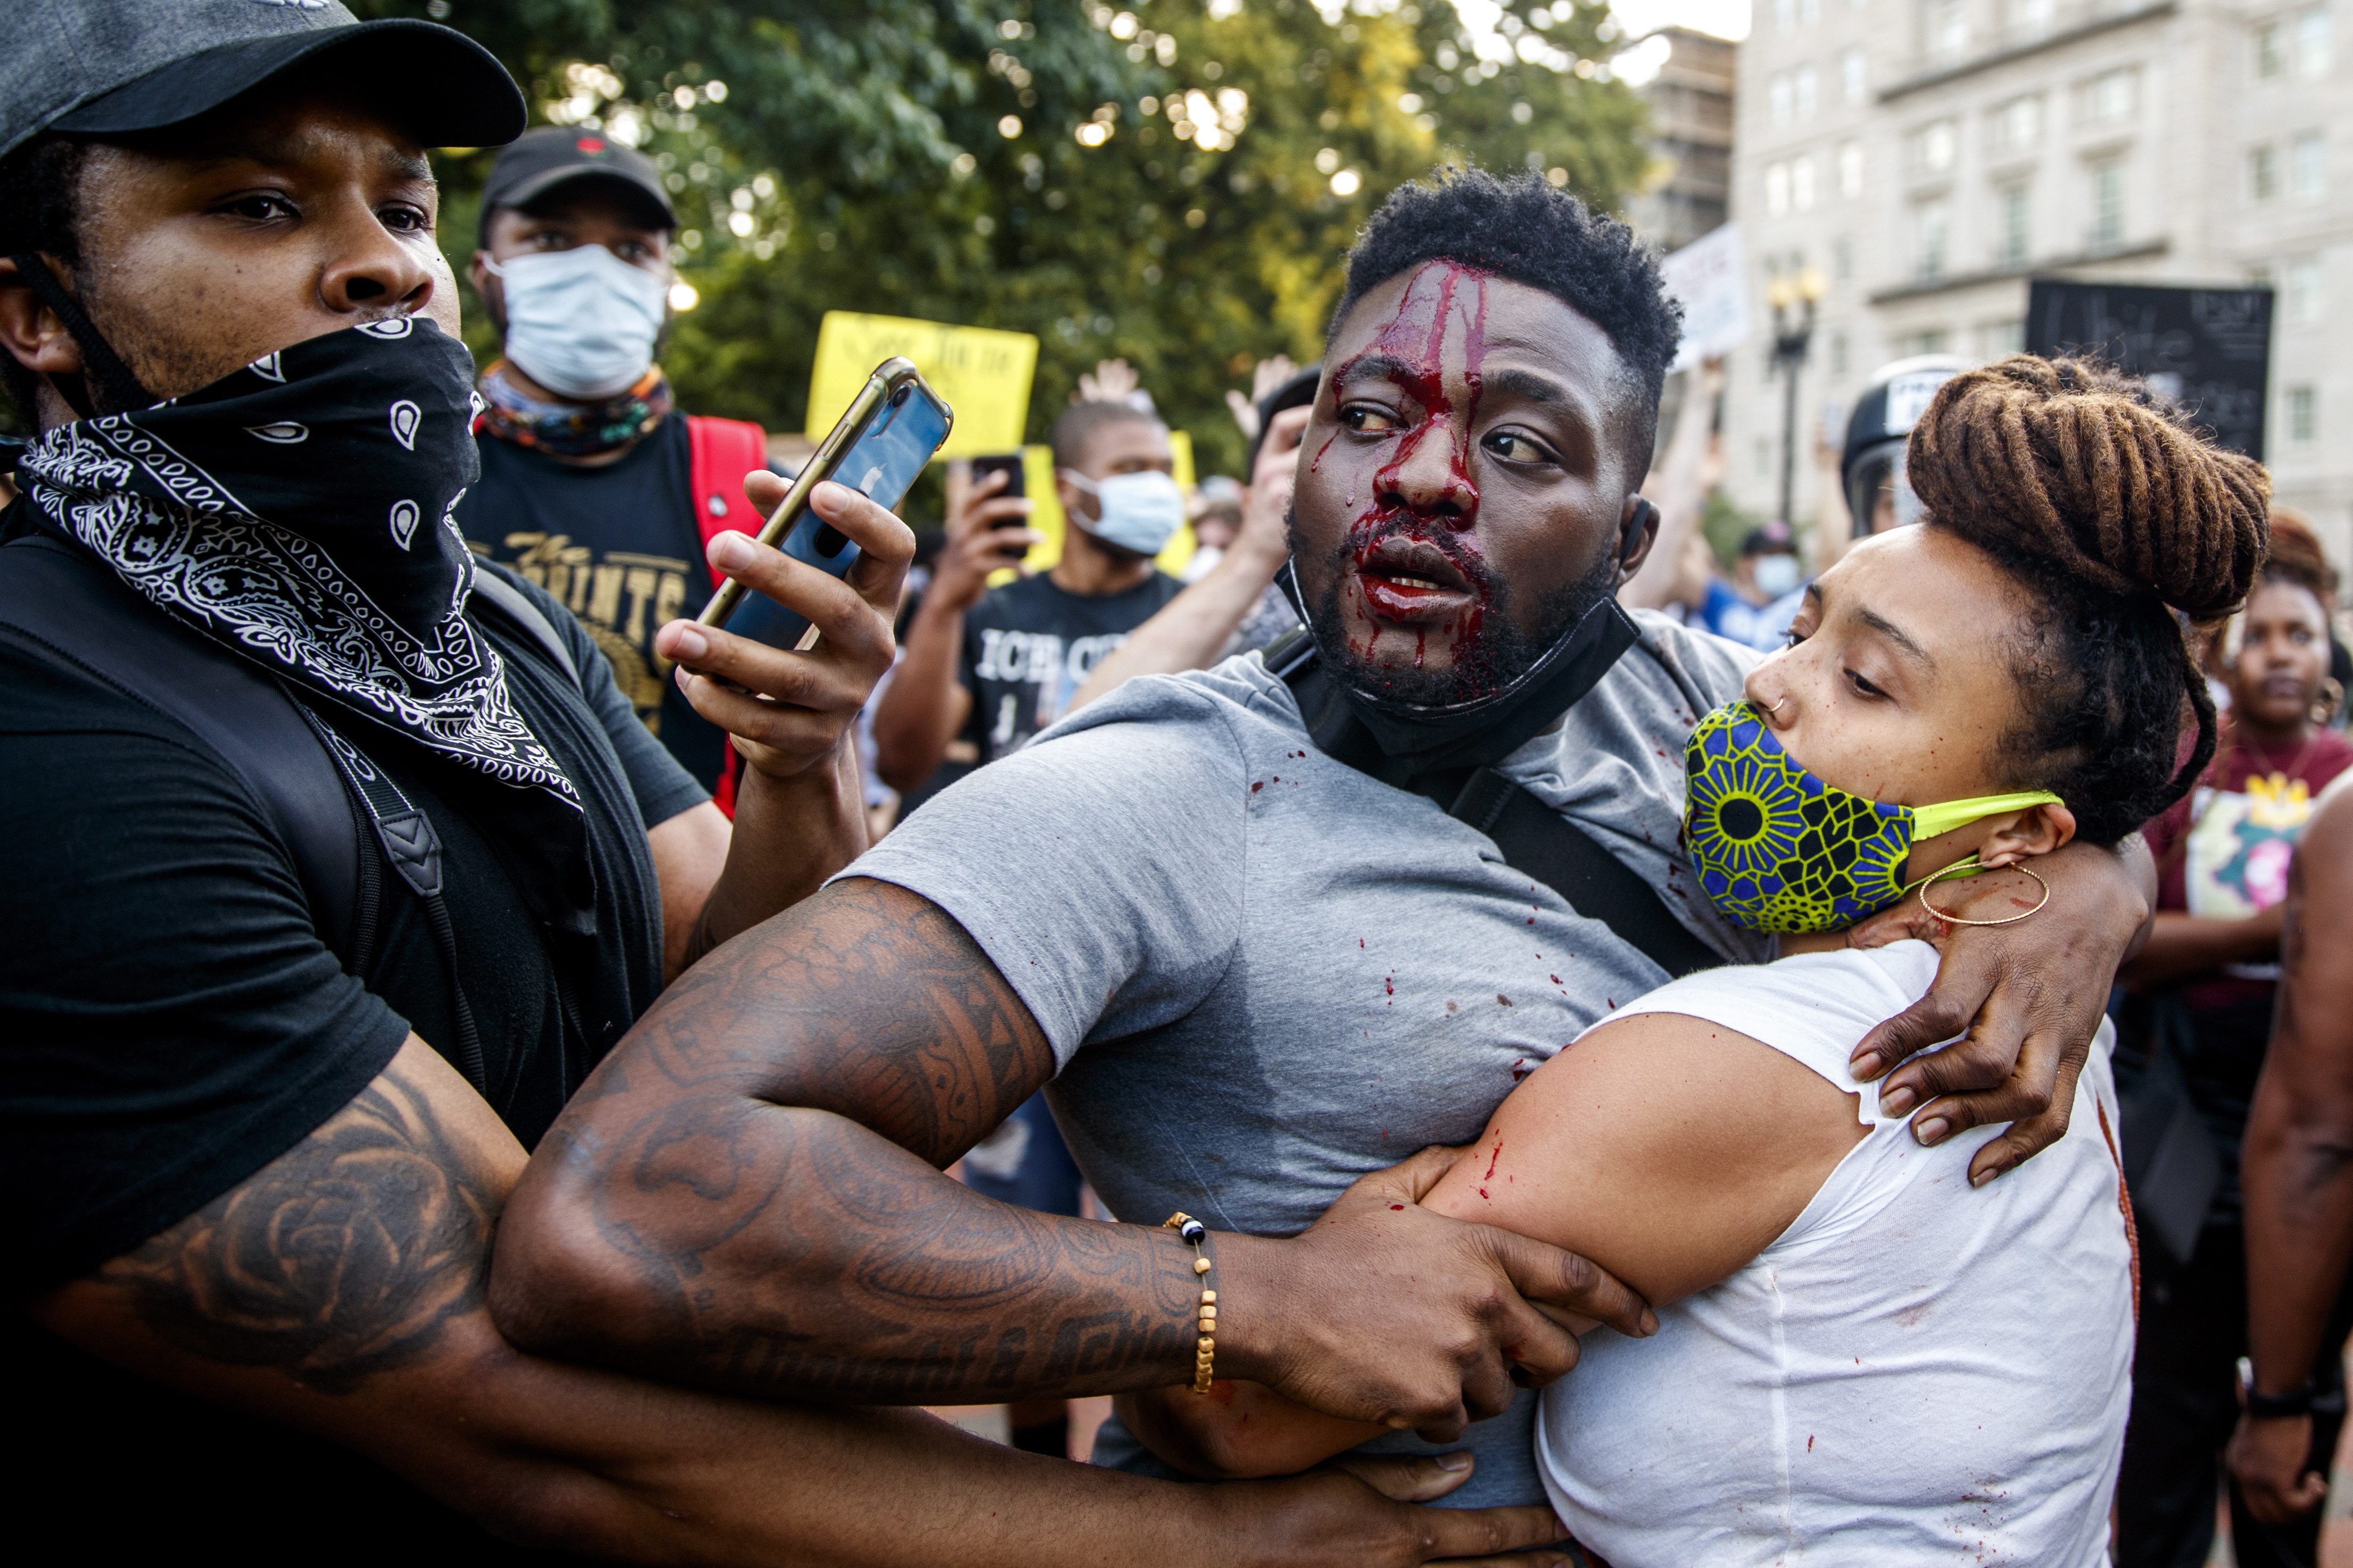
[[449,510],[480,475],[471,369],[424,317],[329,331],[45,430],[16,475],[174,621],[576,823],[572,780],[466,621],[475,567]]

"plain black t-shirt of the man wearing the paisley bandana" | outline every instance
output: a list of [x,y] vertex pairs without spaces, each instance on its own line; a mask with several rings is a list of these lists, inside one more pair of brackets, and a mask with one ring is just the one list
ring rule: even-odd
[[[645,832],[704,790],[638,724],[588,635],[527,592],[572,644],[581,686],[504,616],[478,611],[475,625],[581,795],[593,936],[544,929],[468,816],[480,790],[508,785],[336,717],[442,839],[489,1100],[532,1145],[661,990]],[[454,1053],[449,976],[421,900],[386,877],[374,959],[346,973],[238,773],[174,719],[5,628],[0,832],[0,1269],[16,1300],[278,1159],[409,1030]],[[7,1312],[0,1366],[19,1434],[38,1434],[19,1450],[19,1495],[71,1519],[92,1556],[511,1554],[341,1448],[118,1373],[21,1312]]]

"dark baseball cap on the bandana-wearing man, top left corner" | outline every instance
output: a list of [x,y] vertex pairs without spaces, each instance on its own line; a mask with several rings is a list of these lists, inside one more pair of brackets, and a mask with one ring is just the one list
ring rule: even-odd
[[424,146],[499,146],[525,125],[506,66],[435,21],[360,21],[339,0],[9,2],[0,155],[42,132],[184,125],[294,66],[348,68]]

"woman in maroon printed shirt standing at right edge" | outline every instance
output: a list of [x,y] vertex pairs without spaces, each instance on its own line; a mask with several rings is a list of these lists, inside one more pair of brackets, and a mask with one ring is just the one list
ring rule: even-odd
[[[2271,1039],[2280,900],[2313,799],[2353,766],[2353,745],[2327,726],[2334,698],[2322,696],[2334,597],[2311,529],[2275,510],[2271,559],[2224,649],[2231,715],[2221,748],[2198,790],[2144,827],[2158,858],[2158,924],[2122,971],[2132,994],[2120,1037],[2141,1051],[2165,1037],[2214,1140],[2221,1180],[2186,1265],[2141,1251],[2132,1427],[2118,1481],[2125,1568],[2205,1561],[2214,1530],[2217,1465],[2238,1418],[2235,1366],[2247,1347],[2238,1154]],[[2325,1361],[2334,1366],[2334,1340]],[[2315,1521],[2261,1526],[2233,1488],[2231,1535],[2245,1568],[2311,1563]]]

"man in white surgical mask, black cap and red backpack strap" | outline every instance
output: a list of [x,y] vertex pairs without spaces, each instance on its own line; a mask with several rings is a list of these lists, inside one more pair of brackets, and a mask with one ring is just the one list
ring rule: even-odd
[[[482,480],[456,520],[581,618],[645,726],[732,811],[734,750],[671,679],[654,628],[711,597],[713,534],[758,527],[744,475],[767,465],[767,437],[671,402],[654,360],[675,230],[635,148],[541,127],[499,153],[471,275],[506,353],[482,371]],[[746,607],[732,630],[758,623]]]

